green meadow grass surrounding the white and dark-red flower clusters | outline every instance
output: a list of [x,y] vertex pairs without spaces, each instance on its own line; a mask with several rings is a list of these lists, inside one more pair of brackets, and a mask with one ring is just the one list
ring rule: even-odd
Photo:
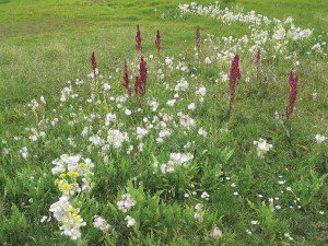
[[[177,132],[163,147],[154,144],[153,134],[145,141],[143,155],[137,155],[136,159],[109,152],[108,166],[102,163],[103,160],[96,150],[87,152],[86,143],[80,141],[78,148],[72,148],[65,141],[68,137],[78,138],[82,126],[73,129],[63,122],[60,129],[54,128],[47,132],[50,144],[37,142],[30,145],[24,128],[35,126],[35,118],[27,112],[26,104],[32,98],[44,95],[47,106],[42,114],[50,119],[56,117],[50,109],[57,107],[58,96],[67,81],[82,78],[90,83],[85,75],[91,70],[92,51],[95,51],[99,71],[106,75],[105,79],[115,94],[124,92],[121,73],[116,73],[115,70],[122,68],[125,58],[137,61],[137,24],[141,25],[145,55],[155,54],[154,36],[160,28],[163,37],[162,54],[174,56],[176,59],[179,59],[181,54],[190,66],[195,62],[194,35],[197,25],[201,26],[203,35],[209,33],[215,37],[241,37],[246,33],[245,24],[225,25],[202,16],[174,17],[179,2],[0,0],[0,137],[9,142],[0,143],[0,151],[1,148],[10,145],[16,152],[28,145],[33,150],[31,154],[38,155],[27,161],[22,160],[17,153],[0,155],[0,243],[71,244],[65,236],[59,235],[54,219],[44,224],[39,223],[39,220],[42,215],[48,214],[49,206],[59,196],[54,187],[51,161],[65,153],[79,152],[85,153],[96,164],[97,184],[95,191],[92,191],[93,198],[84,200],[85,206],[81,211],[84,220],[90,223],[92,216],[101,212],[112,225],[117,226],[108,238],[103,238],[94,229],[83,230],[85,237],[82,244],[99,245],[107,242],[108,245],[289,245],[289,241],[283,236],[284,232],[290,232],[297,245],[328,243],[328,196],[325,180],[328,168],[327,142],[319,145],[314,141],[317,133],[328,136],[327,58],[302,54],[303,49],[311,48],[309,44],[295,44],[294,47],[290,47],[290,50],[300,52],[301,61],[297,69],[298,98],[291,121],[291,143],[284,128],[274,121],[274,112],[283,114],[288,103],[286,74],[292,67],[291,62],[282,58],[268,60],[263,70],[269,75],[269,83],[263,84],[257,81],[250,71],[251,57],[245,55],[242,56],[243,80],[230,120],[224,119],[227,108],[227,84],[214,84],[210,80],[218,77],[218,71],[227,72],[229,67],[220,62],[210,68],[202,67],[198,80],[191,79],[190,74],[186,75],[192,90],[200,85],[207,86],[206,103],[200,104],[194,117],[199,126],[207,129],[209,137],[203,140],[197,136],[197,131],[188,136],[197,142],[197,147],[192,149],[195,162],[190,169],[181,169],[171,179],[155,178],[151,175],[150,166],[153,156],[162,161],[167,159],[167,153],[180,151],[186,143],[183,132]],[[222,4],[243,11],[255,10],[270,17],[293,16],[295,24],[303,28],[314,28],[315,37],[327,31],[328,3],[324,0],[235,0],[223,1]],[[163,20],[162,13],[168,16]],[[206,54],[211,55],[211,50],[204,50],[203,56]],[[274,72],[269,67],[270,62],[276,62]],[[150,70],[154,71],[155,61],[149,61],[149,65]],[[165,72],[167,82],[174,86],[180,74]],[[277,73],[278,83],[272,82],[271,73]],[[109,74],[113,79],[108,78]],[[251,78],[249,83],[244,81],[246,74]],[[173,93],[169,94],[162,85],[156,85],[159,81],[154,73],[150,74],[150,81],[149,96],[159,98],[159,102],[165,105],[166,101],[173,97]],[[87,84],[80,89],[81,95],[86,95]],[[314,92],[319,93],[315,102],[312,98]],[[186,109],[188,102],[195,99],[194,95],[184,95],[185,102],[179,105],[184,108],[181,110]],[[79,105],[78,102],[73,104]],[[130,103],[128,107],[136,106]],[[65,119],[69,118],[68,106],[59,110]],[[84,110],[96,110],[104,117],[105,113],[117,109],[106,104],[85,105]],[[174,108],[169,114],[177,112],[178,108]],[[83,114],[79,117],[83,118]],[[120,118],[127,122],[129,130],[136,129],[140,124],[138,116],[128,118],[121,114]],[[227,128],[229,132],[221,132],[220,129],[223,128]],[[14,136],[22,136],[22,139],[14,141]],[[256,156],[253,145],[253,141],[260,137],[269,140],[274,147],[265,160]],[[202,150],[208,150],[208,154],[203,154]],[[142,174],[140,181],[143,189],[129,183],[139,174]],[[293,187],[295,197],[288,192],[281,194],[279,175],[286,179],[284,187]],[[226,176],[232,180],[226,180]],[[206,220],[200,224],[195,224],[194,221],[194,206],[198,201],[184,199],[184,192],[192,190],[189,187],[191,183],[196,184],[198,191],[206,190],[211,196],[206,204]],[[237,185],[236,189],[231,187],[232,183]],[[120,224],[122,215],[114,216],[115,209],[108,207],[108,202],[115,204],[119,200],[119,195],[125,192],[126,187],[137,199],[138,210],[132,211],[132,215],[143,220],[136,231],[124,227]],[[239,197],[233,196],[235,190],[239,192]],[[162,194],[157,194],[159,191]],[[271,210],[268,202],[266,206],[261,204],[257,198],[258,194],[261,194],[266,201],[268,198],[280,197],[283,209],[277,212]],[[31,198],[33,202],[28,201]],[[301,199],[298,203],[302,208],[290,210],[289,206],[294,206],[293,200],[296,198]],[[325,214],[319,214],[319,211],[325,211]],[[251,220],[259,220],[260,225],[251,227]],[[203,241],[213,224],[223,231],[223,237],[214,242]],[[247,229],[253,230],[253,236],[245,233]]]

